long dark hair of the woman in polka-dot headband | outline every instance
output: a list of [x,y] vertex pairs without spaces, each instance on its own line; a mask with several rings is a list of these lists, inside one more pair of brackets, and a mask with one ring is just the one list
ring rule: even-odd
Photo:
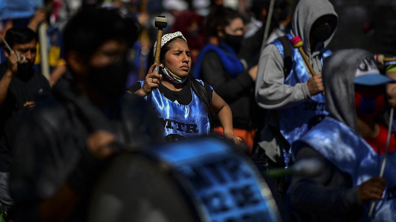
[[[183,38],[181,38],[181,36],[179,36],[179,37],[169,40],[164,46],[161,47],[160,61],[164,60],[165,54],[171,49],[172,43],[176,39],[183,40]],[[147,62],[146,73],[148,73],[148,70],[150,69],[152,64],[154,64],[154,47],[155,47],[155,45],[152,45],[152,47],[150,49],[150,53],[148,53],[148,62]],[[204,104],[205,111],[206,111],[206,113],[208,113],[209,123],[210,123],[210,125],[212,125],[214,115],[213,115],[213,112],[211,109],[211,105],[210,105],[211,102],[209,101],[208,92],[206,92],[204,86],[200,82],[196,81],[195,77],[191,74],[191,70],[192,70],[192,68],[190,67],[190,71],[188,72],[187,80],[185,81],[185,84],[187,84],[188,87],[192,88],[192,91],[194,91],[194,93],[198,96],[199,100]]]

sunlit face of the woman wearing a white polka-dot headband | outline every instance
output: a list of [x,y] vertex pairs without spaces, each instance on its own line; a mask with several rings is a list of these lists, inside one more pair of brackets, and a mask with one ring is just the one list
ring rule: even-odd
[[176,39],[171,43],[171,48],[165,53],[162,61],[164,66],[181,79],[185,79],[191,68],[190,49],[187,42]]

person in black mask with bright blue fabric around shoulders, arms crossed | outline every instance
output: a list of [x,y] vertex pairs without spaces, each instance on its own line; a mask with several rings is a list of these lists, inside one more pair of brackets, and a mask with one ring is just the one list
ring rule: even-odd
[[[213,86],[227,102],[232,111],[234,134],[251,149],[255,137],[253,91],[257,66],[247,69],[246,62],[237,56],[245,30],[241,15],[229,8],[218,10],[213,20],[208,21],[212,41],[200,52],[193,75]],[[218,122],[214,126],[214,132],[223,134]]]

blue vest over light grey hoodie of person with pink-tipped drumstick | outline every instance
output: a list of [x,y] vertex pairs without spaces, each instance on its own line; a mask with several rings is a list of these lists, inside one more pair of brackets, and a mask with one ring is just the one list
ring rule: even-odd
[[[289,39],[292,38],[291,34],[287,34],[287,37]],[[275,40],[272,42],[272,44],[278,48],[283,58],[284,51],[282,43],[279,40]],[[310,78],[310,75],[305,69],[304,60],[301,57],[298,49],[294,49],[291,44],[290,47],[292,51],[293,64],[291,66],[291,71],[286,77],[284,83],[294,86],[296,83],[307,82]],[[331,51],[329,49],[324,48],[321,51],[320,56],[322,64],[323,58],[326,58],[329,55],[331,55]],[[285,137],[285,139],[290,144],[292,144],[299,137],[301,137],[301,135],[305,134],[309,128],[314,126],[314,124],[320,120],[320,117],[323,117],[327,114],[328,113],[325,110],[325,98],[323,94],[317,94],[303,103],[290,108],[281,109],[279,111],[280,132]]]

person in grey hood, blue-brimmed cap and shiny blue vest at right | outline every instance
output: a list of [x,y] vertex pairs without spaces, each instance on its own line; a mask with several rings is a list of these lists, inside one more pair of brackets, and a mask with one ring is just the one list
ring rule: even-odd
[[[315,177],[294,176],[290,200],[300,221],[396,221],[396,137],[390,144],[383,178],[379,172],[388,135],[386,83],[373,55],[362,49],[337,51],[323,67],[329,115],[295,143],[296,161],[316,158],[324,170]],[[384,193],[385,190],[385,193]]]

